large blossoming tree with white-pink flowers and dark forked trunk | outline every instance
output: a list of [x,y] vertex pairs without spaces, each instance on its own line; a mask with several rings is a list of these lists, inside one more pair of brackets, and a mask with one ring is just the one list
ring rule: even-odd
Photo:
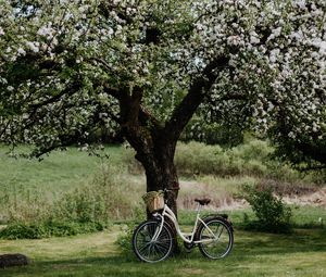
[[196,112],[325,139],[324,0],[0,2],[0,137],[37,156],[120,128],[176,212]]

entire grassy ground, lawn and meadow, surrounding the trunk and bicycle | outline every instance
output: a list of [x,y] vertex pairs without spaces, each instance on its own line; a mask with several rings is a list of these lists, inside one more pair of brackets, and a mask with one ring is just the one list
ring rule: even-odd
[[[197,249],[188,254],[181,248],[178,256],[155,265],[136,261],[128,241],[124,248],[117,243],[145,218],[145,176],[130,149],[108,146],[97,156],[70,148],[41,162],[9,158],[7,151],[0,147],[0,229],[17,223],[21,229],[11,229],[14,240],[0,239],[0,254],[24,253],[30,265],[0,269],[0,276],[326,275],[325,206],[291,204],[291,234],[246,230],[246,221],[255,216],[239,199],[242,185],[271,185],[276,192],[298,199],[325,186],[323,174],[302,174],[272,160],[273,149],[266,142],[252,140],[231,150],[195,142],[178,146],[181,225],[192,224],[193,198],[210,196],[213,203],[204,213],[229,215],[235,247],[227,259],[215,262],[203,259]],[[16,240],[17,231],[37,239]]]

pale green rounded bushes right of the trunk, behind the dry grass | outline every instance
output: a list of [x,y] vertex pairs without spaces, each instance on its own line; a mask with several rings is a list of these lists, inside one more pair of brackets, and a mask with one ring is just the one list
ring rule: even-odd
[[267,175],[265,162],[271,152],[267,143],[259,140],[231,149],[191,141],[178,143],[175,164],[183,175],[263,176]]

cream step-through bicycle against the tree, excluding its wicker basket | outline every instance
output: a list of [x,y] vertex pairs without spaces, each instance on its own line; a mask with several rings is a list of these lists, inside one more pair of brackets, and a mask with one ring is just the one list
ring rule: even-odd
[[[170,190],[164,190],[164,196]],[[164,197],[166,199],[166,197]],[[156,263],[167,259],[175,245],[174,232],[168,218],[174,225],[177,235],[184,240],[187,250],[196,245],[209,259],[223,259],[229,254],[234,244],[234,229],[226,215],[208,215],[200,217],[202,207],[211,202],[210,199],[195,199],[198,203],[197,216],[192,231],[183,232],[178,221],[163,200],[163,207],[154,211],[152,218],[142,222],[134,230],[133,250],[136,256],[147,263]],[[158,210],[158,209],[156,209]]]

